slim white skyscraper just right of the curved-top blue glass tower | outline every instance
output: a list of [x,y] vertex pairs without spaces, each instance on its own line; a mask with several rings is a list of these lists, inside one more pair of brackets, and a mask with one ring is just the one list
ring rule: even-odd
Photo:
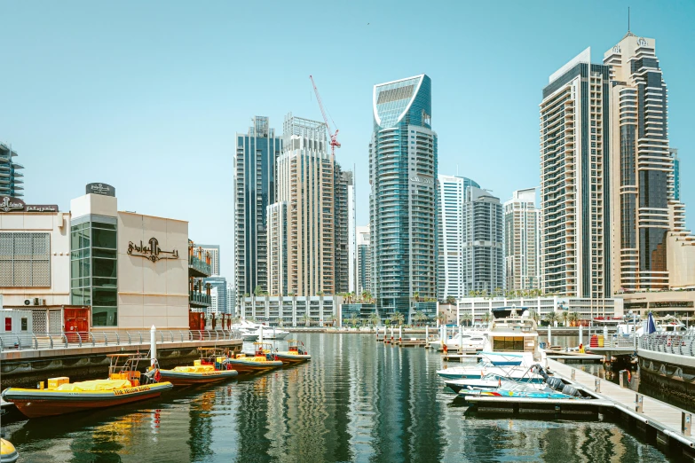
[[466,247],[463,238],[463,229],[466,224],[463,203],[466,200],[466,190],[470,186],[480,188],[480,185],[470,178],[438,175],[437,297],[439,301],[446,300],[448,296],[458,299],[468,295],[466,275],[463,271]]

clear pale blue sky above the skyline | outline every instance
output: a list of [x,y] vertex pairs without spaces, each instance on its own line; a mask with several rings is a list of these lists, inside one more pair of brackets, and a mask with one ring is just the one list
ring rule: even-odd
[[368,220],[372,87],[426,73],[439,172],[506,200],[537,186],[541,90],[588,46],[656,38],[669,136],[695,224],[695,2],[0,3],[0,140],[20,153],[26,200],[58,203],[106,182],[121,210],[190,222],[232,277],[235,132],[254,114],[320,120],[309,75],[356,165]]

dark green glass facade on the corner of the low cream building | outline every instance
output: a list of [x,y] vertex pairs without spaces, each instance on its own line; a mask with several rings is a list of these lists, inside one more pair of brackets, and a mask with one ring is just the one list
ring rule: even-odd
[[92,326],[118,326],[115,217],[90,216],[70,230],[70,303],[91,305]]

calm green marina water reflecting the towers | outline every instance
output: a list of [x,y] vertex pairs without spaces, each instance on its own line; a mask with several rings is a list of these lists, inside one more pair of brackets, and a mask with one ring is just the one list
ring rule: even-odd
[[[20,461],[661,461],[612,422],[477,418],[437,354],[298,334],[313,359],[120,409],[5,427]],[[282,347],[282,343],[280,343]]]

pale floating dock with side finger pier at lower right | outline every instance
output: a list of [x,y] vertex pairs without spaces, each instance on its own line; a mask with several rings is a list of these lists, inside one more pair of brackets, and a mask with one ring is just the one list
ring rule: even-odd
[[531,399],[524,397],[471,396],[479,412],[611,414],[636,428],[649,441],[665,446],[678,457],[695,460],[695,437],[691,433],[692,413],[632,389],[602,380],[593,374],[547,358],[550,373],[581,389],[591,400]]

